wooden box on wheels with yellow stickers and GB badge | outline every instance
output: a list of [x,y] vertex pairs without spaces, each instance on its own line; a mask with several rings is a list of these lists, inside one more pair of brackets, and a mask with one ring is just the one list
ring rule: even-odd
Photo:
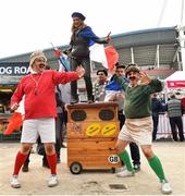
[[67,105],[67,167],[83,169],[121,167],[114,145],[120,132],[115,102]]

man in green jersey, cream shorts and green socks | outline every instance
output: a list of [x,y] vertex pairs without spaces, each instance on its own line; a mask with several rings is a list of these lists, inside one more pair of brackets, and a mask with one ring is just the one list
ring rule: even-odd
[[128,84],[123,84],[125,90],[125,124],[122,127],[115,145],[119,157],[126,164],[127,170],[118,173],[118,176],[134,176],[126,146],[131,142],[137,143],[151,169],[155,171],[161,182],[163,194],[172,193],[171,186],[165,179],[162,164],[151,148],[152,140],[152,118],[150,109],[150,95],[162,90],[162,83],[159,79],[150,78],[145,72],[141,72],[137,64],[128,64],[125,69],[125,75]]

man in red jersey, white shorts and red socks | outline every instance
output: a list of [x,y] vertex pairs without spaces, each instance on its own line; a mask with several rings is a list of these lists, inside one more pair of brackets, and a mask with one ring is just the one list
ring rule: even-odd
[[16,110],[24,96],[25,115],[23,122],[21,150],[17,152],[14,163],[14,171],[11,177],[13,188],[21,187],[18,172],[32,146],[40,135],[41,143],[45,145],[51,175],[48,186],[58,184],[57,177],[57,155],[55,143],[55,85],[65,84],[83,77],[85,71],[78,66],[76,72],[57,72],[46,70],[47,58],[42,51],[35,51],[30,56],[30,74],[21,79],[16,90],[11,98],[11,109]]

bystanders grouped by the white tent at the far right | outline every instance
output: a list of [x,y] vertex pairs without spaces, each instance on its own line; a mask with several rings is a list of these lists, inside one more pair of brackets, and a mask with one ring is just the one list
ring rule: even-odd
[[161,94],[153,94],[151,98],[151,111],[153,120],[152,139],[157,139],[157,133],[159,131],[159,115],[161,114],[170,122],[172,139],[174,142],[183,142],[183,114],[185,114],[185,96],[180,98],[178,95],[174,93],[169,93],[166,96],[166,101],[164,98],[161,98]]

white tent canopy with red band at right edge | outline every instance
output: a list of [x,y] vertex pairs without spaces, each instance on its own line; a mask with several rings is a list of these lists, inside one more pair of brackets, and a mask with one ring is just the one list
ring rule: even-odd
[[185,71],[176,71],[165,78],[168,88],[185,88]]

